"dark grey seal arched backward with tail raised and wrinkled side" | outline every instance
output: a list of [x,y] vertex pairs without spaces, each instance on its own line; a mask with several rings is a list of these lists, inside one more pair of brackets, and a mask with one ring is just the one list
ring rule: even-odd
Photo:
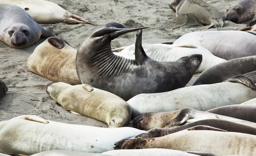
[[[145,27],[144,27],[145,28]],[[125,101],[141,93],[167,92],[184,87],[202,61],[202,55],[183,57],[174,62],[149,58],[141,45],[142,31],[126,29],[119,23],[108,23],[94,32],[76,54],[76,71],[82,84],[112,92]],[[111,40],[138,31],[135,60],[114,55]]]

